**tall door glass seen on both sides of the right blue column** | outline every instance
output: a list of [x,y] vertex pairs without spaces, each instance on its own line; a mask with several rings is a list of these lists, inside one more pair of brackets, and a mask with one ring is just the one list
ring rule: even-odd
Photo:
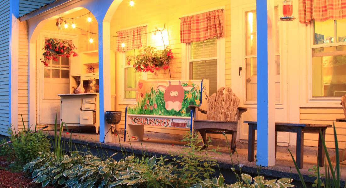
[[[275,102],[280,102],[279,6],[274,7]],[[245,101],[257,101],[257,24],[256,10],[245,12]]]

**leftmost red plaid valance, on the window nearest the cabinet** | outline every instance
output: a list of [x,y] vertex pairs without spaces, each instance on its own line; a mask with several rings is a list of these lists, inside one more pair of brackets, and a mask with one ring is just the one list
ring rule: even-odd
[[[140,49],[146,43],[146,26],[140,26],[117,32],[116,51],[124,52],[133,49]],[[122,47],[122,43],[125,44]]]

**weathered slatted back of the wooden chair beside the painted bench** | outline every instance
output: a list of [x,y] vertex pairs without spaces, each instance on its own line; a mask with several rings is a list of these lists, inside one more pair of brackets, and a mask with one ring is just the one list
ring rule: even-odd
[[208,120],[237,121],[237,109],[240,99],[229,87],[221,87],[208,98]]

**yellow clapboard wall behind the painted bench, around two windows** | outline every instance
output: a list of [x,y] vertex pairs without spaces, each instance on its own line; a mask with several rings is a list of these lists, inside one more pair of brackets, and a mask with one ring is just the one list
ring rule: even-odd
[[[153,6],[154,5],[154,6]],[[135,6],[130,7],[128,1],[123,1],[115,12],[112,20],[111,20],[111,35],[116,35],[116,32],[124,29],[131,28],[141,24],[148,24],[147,31],[154,31],[157,27],[158,29],[162,29],[164,24],[166,24],[165,30],[168,32],[169,43],[165,43],[166,46],[170,46],[174,59],[170,63],[171,76],[173,80],[181,79],[182,71],[182,43],[180,43],[180,20],[179,18],[183,15],[189,15],[195,12],[203,12],[215,10],[223,7],[225,13],[225,57],[226,57],[226,75],[225,81],[226,86],[231,86],[231,47],[230,47],[230,1],[229,0],[176,0],[176,1],[159,1],[159,0],[150,0],[148,1],[136,1]],[[162,40],[155,41],[153,39],[154,33],[148,34],[148,46],[154,46],[158,48],[162,48]],[[157,32],[159,36],[161,36],[160,32]],[[111,37],[114,38],[114,37]],[[115,39],[116,40],[116,39]],[[113,46],[111,46],[113,48]],[[117,53],[117,56],[120,54]],[[118,59],[118,58],[117,58]],[[120,63],[116,62],[116,67],[119,67]],[[119,73],[120,71],[117,69],[117,83],[116,86],[120,85],[120,81],[123,81]],[[169,72],[168,70],[159,70],[157,73],[148,74],[148,80],[169,80]],[[120,102],[120,97],[122,93],[120,93],[120,88],[116,87],[116,110],[122,111],[122,119],[120,121],[119,128],[124,128],[125,123],[125,107],[126,105],[118,104]],[[166,129],[146,127],[147,131],[155,131],[155,132],[163,132],[163,133],[174,133],[183,135],[186,133],[186,130],[183,129],[170,129],[167,131]]]

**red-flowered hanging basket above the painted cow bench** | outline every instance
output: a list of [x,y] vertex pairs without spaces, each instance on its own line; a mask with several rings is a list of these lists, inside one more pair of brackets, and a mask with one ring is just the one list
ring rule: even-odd
[[127,56],[127,64],[131,65],[137,72],[155,72],[162,67],[164,70],[169,68],[169,62],[173,59],[173,53],[170,47],[164,50],[156,50],[155,47],[145,47],[139,50],[137,56]]

